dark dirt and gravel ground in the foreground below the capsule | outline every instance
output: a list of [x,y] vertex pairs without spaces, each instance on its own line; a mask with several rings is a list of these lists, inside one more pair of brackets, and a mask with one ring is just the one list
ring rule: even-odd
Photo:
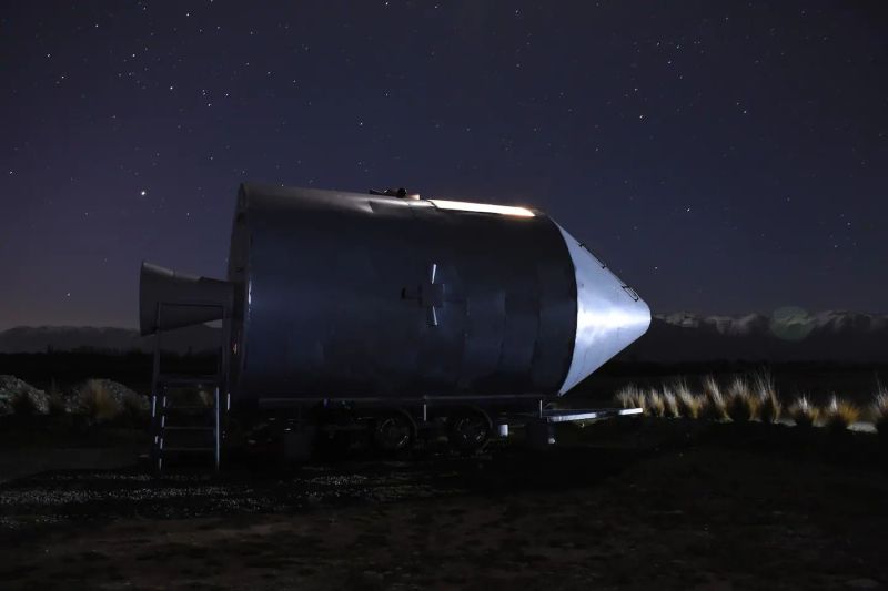
[[0,589],[881,589],[870,434],[639,419],[292,471],[0,486]]

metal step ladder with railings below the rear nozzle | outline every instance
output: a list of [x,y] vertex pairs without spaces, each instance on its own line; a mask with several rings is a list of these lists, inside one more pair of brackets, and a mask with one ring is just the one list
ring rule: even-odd
[[[158,305],[159,317],[164,306]],[[161,332],[155,334],[151,463],[157,475],[171,463],[188,467],[209,465],[214,471],[219,471],[222,465],[225,419],[231,404],[228,393],[228,318],[223,318],[222,326],[216,371],[210,375],[163,373]],[[201,397],[202,393],[212,393],[210,399]]]

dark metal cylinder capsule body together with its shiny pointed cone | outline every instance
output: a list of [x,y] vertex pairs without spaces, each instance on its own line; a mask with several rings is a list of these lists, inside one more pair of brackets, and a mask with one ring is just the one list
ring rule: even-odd
[[235,400],[563,394],[648,327],[538,211],[242,185]]

